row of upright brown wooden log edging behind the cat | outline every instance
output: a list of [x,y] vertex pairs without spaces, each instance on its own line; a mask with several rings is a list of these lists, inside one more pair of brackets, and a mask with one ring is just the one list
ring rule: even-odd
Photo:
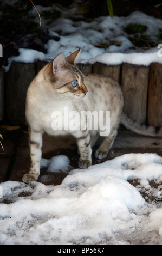
[[[5,76],[5,105],[7,119],[12,125],[25,123],[25,97],[30,82],[47,62],[13,62]],[[121,84],[124,95],[124,111],[140,123],[162,126],[162,65],[152,63],[150,67],[123,63],[105,65],[99,62],[77,64],[82,72],[95,72],[113,77]],[[0,120],[3,117],[3,75],[0,72]],[[2,99],[2,102],[1,102]],[[118,103],[118,102],[116,102]],[[4,110],[2,110],[3,112]]]

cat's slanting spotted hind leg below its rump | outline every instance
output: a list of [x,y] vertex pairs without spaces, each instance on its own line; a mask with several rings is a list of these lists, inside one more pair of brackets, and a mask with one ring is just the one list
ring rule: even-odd
[[96,159],[104,159],[105,157],[107,157],[108,152],[114,143],[116,135],[117,130],[113,131],[113,133],[103,139],[100,147],[95,151],[94,156],[96,157]]

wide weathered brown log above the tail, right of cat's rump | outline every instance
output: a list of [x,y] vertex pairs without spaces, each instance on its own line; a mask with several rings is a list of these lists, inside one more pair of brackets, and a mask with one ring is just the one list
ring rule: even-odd
[[149,67],[122,64],[121,88],[124,112],[139,123],[146,122]]

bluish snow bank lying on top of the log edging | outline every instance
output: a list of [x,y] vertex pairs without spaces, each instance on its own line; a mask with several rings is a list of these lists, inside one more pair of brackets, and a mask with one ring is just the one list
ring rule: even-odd
[[[111,19],[110,16],[101,16],[90,22],[84,19],[74,21],[73,17],[81,16],[75,14],[76,6],[72,6],[68,10],[59,8],[58,5],[53,5],[50,8],[37,5],[36,8],[40,15],[43,11],[53,9],[61,12],[61,17],[53,21],[45,20],[41,15],[41,28],[48,30],[50,36],[57,36],[60,40],[50,39],[44,45],[47,53],[20,48],[20,55],[9,58],[9,65],[5,68],[5,71],[9,70],[13,60],[24,63],[32,63],[37,60],[49,62],[60,52],[68,56],[78,48],[81,48],[80,63],[101,62],[107,65],[118,65],[126,62],[146,66],[149,66],[152,62],[162,63],[162,44],[160,44],[160,39],[157,37],[162,27],[162,20],[160,19],[148,16],[140,11],[134,11],[127,17],[113,16],[113,19]],[[33,9],[32,13],[35,14],[35,12],[36,10]],[[39,24],[37,15],[34,21]],[[124,31],[129,23],[147,26],[143,35],[146,38],[149,37],[157,46],[151,48],[146,42],[146,50],[134,47],[129,40],[129,35]],[[119,42],[119,44],[115,44],[115,42]],[[97,47],[101,44],[106,44],[107,47]]]

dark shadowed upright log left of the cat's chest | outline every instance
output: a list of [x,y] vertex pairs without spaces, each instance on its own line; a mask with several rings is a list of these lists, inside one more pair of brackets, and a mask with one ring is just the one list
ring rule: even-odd
[[5,80],[7,118],[12,125],[25,124],[27,89],[35,75],[35,63],[12,62]]

